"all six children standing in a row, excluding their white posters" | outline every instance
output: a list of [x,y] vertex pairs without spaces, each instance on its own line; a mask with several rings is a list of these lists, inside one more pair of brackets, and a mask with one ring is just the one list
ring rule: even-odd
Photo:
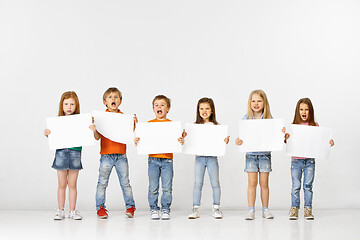
[[[107,112],[122,113],[119,106],[122,102],[122,94],[117,88],[109,88],[103,95],[103,103],[106,106]],[[153,111],[155,119],[149,122],[167,122],[171,121],[167,118],[167,113],[170,111],[170,99],[164,95],[158,95],[154,98]],[[59,116],[69,116],[80,113],[79,99],[75,92],[65,92],[61,96],[59,104]],[[201,98],[198,101],[196,109],[196,124],[211,124],[218,125],[215,114],[215,104],[211,98]],[[266,94],[262,90],[254,90],[250,93],[248,100],[248,111],[243,119],[271,119],[270,106]],[[310,99],[300,99],[296,105],[293,124],[318,126],[314,120],[314,109]],[[134,115],[134,130],[138,122],[136,115]],[[132,194],[132,188],[129,180],[129,167],[126,156],[126,145],[111,141],[102,136],[94,124],[89,126],[94,133],[96,140],[100,139],[100,167],[99,178],[96,188],[96,209],[99,218],[107,218],[108,211],[105,206],[106,188],[108,186],[110,173],[115,167],[120,186],[122,188],[124,201],[126,204],[126,216],[132,218],[134,216],[135,201]],[[290,138],[288,133],[285,133],[285,128],[282,129],[285,134],[284,142]],[[49,129],[45,129],[44,135],[47,137],[51,134]],[[178,142],[184,144],[186,132],[179,136]],[[141,141],[140,138],[135,138],[135,145]],[[224,139],[225,143],[229,143],[229,136]],[[243,140],[237,138],[235,144],[240,146]],[[334,145],[334,141],[329,141],[330,146]],[[62,220],[65,218],[65,192],[66,187],[69,188],[69,205],[70,211],[68,217],[74,220],[81,220],[82,216],[76,211],[77,190],[76,183],[81,165],[81,147],[57,149],[55,159],[52,167],[57,170],[58,176],[58,209],[54,216],[55,220]],[[265,219],[273,219],[274,216],[268,209],[269,203],[269,173],[271,170],[271,152],[248,152],[246,153],[245,172],[248,173],[248,214],[246,220],[255,219],[255,199],[256,187],[259,182],[260,195],[262,202],[262,216]],[[200,217],[201,192],[204,182],[204,175],[206,168],[210,177],[211,187],[213,190],[213,217],[216,219],[222,218],[220,210],[220,181],[219,181],[219,163],[217,156],[196,156],[195,157],[195,183],[193,190],[193,208],[189,214],[189,219],[196,219]],[[304,158],[301,156],[294,156],[291,158],[291,208],[289,212],[289,219],[296,220],[300,208],[300,189],[301,178],[304,174],[304,217],[305,219],[314,219],[312,215],[312,184],[314,181],[315,159]],[[172,181],[173,181],[173,154],[159,153],[149,154],[148,158],[148,177],[149,190],[148,202],[150,206],[150,218],[153,220],[168,220],[170,219],[170,206],[172,203]],[[158,205],[159,198],[159,184],[161,179],[161,207]]]

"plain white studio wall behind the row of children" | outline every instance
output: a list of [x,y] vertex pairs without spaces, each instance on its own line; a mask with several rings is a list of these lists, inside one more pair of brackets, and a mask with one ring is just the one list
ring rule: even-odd
[[[331,127],[330,159],[316,162],[314,208],[359,208],[360,2],[311,1],[5,1],[0,0],[0,208],[57,206],[54,152],[43,136],[62,92],[81,112],[104,110],[108,87],[139,121],[154,117],[157,94],[172,99],[170,119],[193,122],[197,100],[214,99],[231,140],[220,158],[222,207],[247,207],[244,155],[234,144],[251,90],[263,89],[272,114],[290,123],[296,102],[312,99]],[[83,148],[78,208],[95,208],[99,144]],[[128,148],[138,209],[148,209],[147,158]],[[175,155],[173,209],[192,206],[194,157]],[[273,153],[270,207],[290,206],[290,157]],[[107,206],[124,209],[112,173]],[[203,206],[212,203],[206,175]],[[257,199],[257,206],[261,206]]]

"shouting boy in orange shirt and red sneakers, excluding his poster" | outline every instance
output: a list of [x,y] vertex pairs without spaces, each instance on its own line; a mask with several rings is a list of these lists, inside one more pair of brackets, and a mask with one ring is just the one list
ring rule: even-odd
[[[121,113],[119,105],[122,101],[121,92],[117,88],[109,88],[103,95],[104,105],[107,107],[106,112]],[[134,117],[134,127],[137,122]],[[119,178],[120,186],[123,192],[124,201],[126,204],[126,216],[132,218],[134,216],[135,201],[132,193],[132,188],[129,180],[129,165],[126,157],[126,145],[122,143],[113,142],[105,138],[97,130],[95,125],[90,126],[94,132],[96,140],[100,140],[100,167],[99,180],[96,188],[96,210],[99,218],[107,218],[107,210],[105,207],[106,188],[108,186],[110,173],[113,167]]]

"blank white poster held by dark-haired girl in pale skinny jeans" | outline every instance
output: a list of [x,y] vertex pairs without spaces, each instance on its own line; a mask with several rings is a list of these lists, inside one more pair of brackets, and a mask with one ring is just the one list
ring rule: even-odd
[[187,136],[183,153],[200,156],[224,156],[228,126],[208,124],[185,124]]

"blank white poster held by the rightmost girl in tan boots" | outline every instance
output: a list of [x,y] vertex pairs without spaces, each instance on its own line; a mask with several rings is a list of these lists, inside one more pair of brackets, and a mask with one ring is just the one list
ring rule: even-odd
[[286,144],[286,154],[294,157],[323,158],[329,157],[330,128],[291,124],[287,131],[290,138]]

